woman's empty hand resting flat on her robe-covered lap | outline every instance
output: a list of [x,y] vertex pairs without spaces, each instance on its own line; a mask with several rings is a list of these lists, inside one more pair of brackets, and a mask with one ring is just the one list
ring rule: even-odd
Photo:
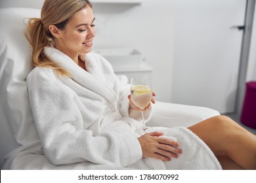
[[179,158],[182,150],[178,148],[179,143],[161,137],[162,132],[154,131],[139,137],[142,148],[142,157],[157,158],[162,161],[171,161],[171,158]]

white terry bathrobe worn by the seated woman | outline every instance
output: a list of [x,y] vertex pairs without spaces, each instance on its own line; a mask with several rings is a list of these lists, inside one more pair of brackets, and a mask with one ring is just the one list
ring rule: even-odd
[[[45,47],[44,52],[71,74],[58,76],[53,69],[35,67],[27,78],[43,148],[38,153],[54,165],[89,161],[132,169],[221,169],[209,147],[185,127],[156,128],[181,144],[183,153],[178,159],[142,158],[135,132],[142,125],[141,113],[128,112],[127,78],[117,77],[110,63],[95,53],[83,58],[85,71],[55,48]],[[145,112],[146,120],[151,114],[152,108]]]

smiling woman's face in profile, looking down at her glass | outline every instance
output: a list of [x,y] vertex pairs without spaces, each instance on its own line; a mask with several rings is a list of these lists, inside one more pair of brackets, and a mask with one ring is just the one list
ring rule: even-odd
[[59,35],[54,39],[55,47],[71,58],[78,53],[91,52],[95,37],[94,20],[93,10],[89,6],[75,13],[64,30],[58,29]]

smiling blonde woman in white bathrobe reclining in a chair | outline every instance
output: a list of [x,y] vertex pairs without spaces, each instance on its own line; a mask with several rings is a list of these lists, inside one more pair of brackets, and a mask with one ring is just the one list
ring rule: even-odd
[[[127,80],[90,53],[94,20],[87,0],[45,0],[41,19],[28,24],[35,69],[27,85],[49,161],[134,169],[256,169],[255,135],[225,116],[188,129],[155,128],[138,135],[140,110],[131,101]],[[144,110],[150,119],[152,106]]]

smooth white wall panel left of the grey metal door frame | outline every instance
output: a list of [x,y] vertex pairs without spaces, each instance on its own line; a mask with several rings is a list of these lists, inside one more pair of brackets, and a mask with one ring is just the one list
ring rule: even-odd
[[246,0],[175,0],[174,103],[233,112]]

